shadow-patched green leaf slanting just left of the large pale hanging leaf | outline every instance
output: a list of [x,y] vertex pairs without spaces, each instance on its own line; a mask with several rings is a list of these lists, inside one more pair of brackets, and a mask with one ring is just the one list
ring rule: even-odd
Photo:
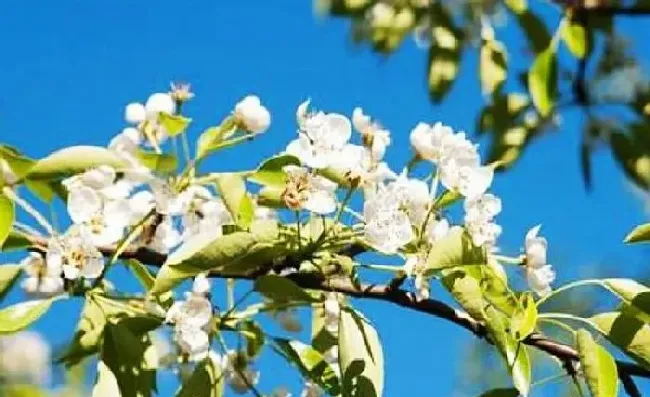
[[341,393],[341,385],[336,372],[320,352],[297,340],[275,338],[273,342],[275,350],[298,368],[303,376],[332,396],[338,396]]

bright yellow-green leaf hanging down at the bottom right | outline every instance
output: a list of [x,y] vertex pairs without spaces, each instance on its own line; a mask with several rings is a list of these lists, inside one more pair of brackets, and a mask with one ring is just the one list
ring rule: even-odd
[[594,397],[616,397],[618,372],[614,358],[584,329],[577,332],[577,349],[591,394]]

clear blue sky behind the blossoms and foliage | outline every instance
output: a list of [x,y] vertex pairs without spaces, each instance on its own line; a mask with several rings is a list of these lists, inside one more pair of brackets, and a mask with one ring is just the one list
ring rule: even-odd
[[[483,103],[475,54],[468,54],[445,104],[433,106],[424,51],[408,41],[388,59],[375,56],[348,40],[342,21],[315,18],[309,1],[7,1],[0,5],[0,26],[0,141],[33,157],[108,143],[124,126],[124,105],[166,90],[172,80],[191,82],[197,95],[186,108],[194,137],[249,93],[273,115],[265,136],[219,153],[207,167],[214,170],[250,168],[284,149],[295,134],[295,108],[308,97],[319,109],[351,114],[360,105],[378,118],[393,134],[387,159],[394,168],[409,158],[408,133],[418,121],[472,132]],[[638,52],[650,49],[641,40],[634,45]],[[511,57],[520,62],[519,53]],[[518,253],[526,230],[542,223],[558,284],[581,274],[632,276],[645,268],[643,248],[626,247],[622,239],[646,215],[607,152],[595,156],[594,191],[582,187],[580,117],[565,113],[560,130],[539,139],[494,185],[504,204],[498,217],[504,251]],[[384,342],[386,396],[452,395],[468,333],[386,304],[359,307]],[[65,303],[35,328],[63,343],[77,308]],[[297,393],[296,376],[276,364],[266,356],[260,363],[262,389],[286,377]],[[169,379],[161,381],[161,395],[171,394]]]

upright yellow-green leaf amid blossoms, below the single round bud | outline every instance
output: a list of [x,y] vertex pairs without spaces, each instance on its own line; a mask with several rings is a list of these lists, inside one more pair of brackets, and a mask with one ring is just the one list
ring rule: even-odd
[[246,193],[244,178],[239,174],[221,174],[217,179],[217,188],[237,225],[248,228],[253,221],[254,208],[253,201]]

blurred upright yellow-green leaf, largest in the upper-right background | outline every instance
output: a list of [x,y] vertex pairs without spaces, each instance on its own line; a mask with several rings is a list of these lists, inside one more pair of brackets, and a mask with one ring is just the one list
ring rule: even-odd
[[547,117],[553,110],[556,84],[557,57],[551,44],[537,55],[528,71],[528,91],[542,117]]

